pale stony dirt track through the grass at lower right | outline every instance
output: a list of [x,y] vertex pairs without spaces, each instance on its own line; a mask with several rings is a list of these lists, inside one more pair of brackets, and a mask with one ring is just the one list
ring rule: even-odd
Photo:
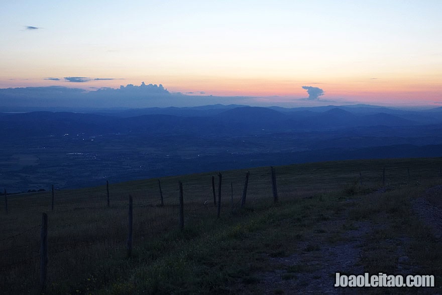
[[[383,193],[376,192],[378,195]],[[359,205],[354,203],[353,206]],[[442,185],[431,187],[422,196],[412,200],[411,208],[432,230],[436,239],[442,242]],[[364,273],[364,267],[359,262],[362,256],[367,255],[364,251],[370,245],[370,235],[389,225],[364,221],[350,222],[349,227],[349,222],[347,210],[333,220],[318,224],[318,228],[325,229],[323,233],[315,233],[299,241],[293,255],[269,257],[273,270],[259,274],[261,280],[258,288],[266,294],[358,293],[354,288],[335,288],[335,273]],[[409,237],[387,237],[379,243],[380,246],[385,243],[394,245],[394,255],[397,256],[394,273],[419,273],[418,266],[411,265],[407,256]],[[420,291],[437,293],[435,289]]]

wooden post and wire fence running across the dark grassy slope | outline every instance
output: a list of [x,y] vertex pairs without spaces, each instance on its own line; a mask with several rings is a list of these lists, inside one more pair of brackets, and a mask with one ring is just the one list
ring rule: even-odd
[[[434,165],[433,165],[434,166]],[[330,166],[333,169],[333,165]],[[387,169],[353,169],[345,175],[335,171],[320,174],[318,171],[286,171],[278,174],[276,169],[276,183],[279,202],[295,199],[299,196],[317,193],[343,187],[343,185],[369,185],[376,183],[378,186],[392,185],[419,181],[429,169],[410,169],[407,166],[387,167]],[[385,171],[385,172],[384,172]],[[438,166],[436,176],[440,171]],[[254,173],[255,172],[255,173]],[[244,174],[223,175],[222,209],[221,216],[240,209],[244,189]],[[253,207],[256,202],[273,203],[272,186],[269,171],[252,171],[251,181],[247,192],[246,207]],[[330,177],[333,175],[333,177]],[[442,178],[442,175],[441,177]],[[217,177],[215,177],[215,180]],[[213,204],[211,178],[205,182],[201,179],[186,179],[184,185],[184,227],[187,223],[204,222],[209,219],[216,220],[216,206]],[[166,181],[165,181],[166,182]],[[384,182],[384,183],[383,183]],[[385,183],[386,182],[386,183]],[[174,182],[175,183],[175,182]],[[312,185],[312,183],[314,183]],[[162,184],[163,202],[156,180],[146,184],[146,187],[118,190],[116,186],[109,185],[110,206],[107,208],[105,188],[98,187],[94,190],[75,192],[57,191],[55,197],[55,210],[49,215],[49,267],[55,269],[73,268],[77,271],[87,271],[93,268],[94,259],[102,259],[106,255],[119,255],[124,252],[128,232],[128,196],[134,199],[134,245],[142,247],[149,244],[153,237],[178,230],[178,183]],[[215,183],[217,194],[217,183]],[[48,196],[33,199],[31,204],[20,204],[19,196],[10,200],[10,212],[2,216],[9,224],[0,233],[0,273],[5,275],[5,282],[11,277],[26,277],[37,281],[38,262],[40,253],[39,215],[48,211]],[[258,197],[259,196],[259,197]],[[46,198],[46,199],[45,199]],[[216,198],[218,203],[218,198]],[[21,228],[23,224],[37,223],[35,226]],[[19,230],[20,229],[20,230]],[[11,231],[11,232],[10,232]],[[120,254],[121,255],[121,254]],[[101,257],[101,258],[100,258]],[[90,260],[91,262],[87,261]],[[79,265],[78,261],[82,261]],[[64,265],[64,266],[60,266]],[[62,273],[51,273],[50,278],[57,280]],[[2,289],[0,289],[2,291]]]

